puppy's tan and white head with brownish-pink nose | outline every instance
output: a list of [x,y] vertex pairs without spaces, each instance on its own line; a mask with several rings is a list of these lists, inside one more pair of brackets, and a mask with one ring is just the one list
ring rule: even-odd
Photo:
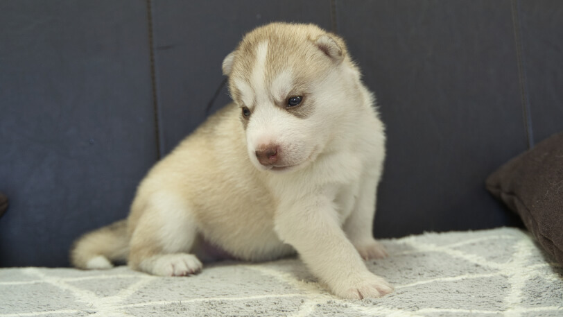
[[295,171],[325,151],[350,109],[359,74],[340,37],[317,26],[268,24],[223,61],[258,169]]

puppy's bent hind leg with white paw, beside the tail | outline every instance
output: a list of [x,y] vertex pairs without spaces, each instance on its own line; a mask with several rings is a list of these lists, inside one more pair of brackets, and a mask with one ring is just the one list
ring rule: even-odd
[[128,265],[161,276],[198,273],[202,264],[189,254],[197,236],[189,207],[179,199],[159,198],[146,208],[132,232]]

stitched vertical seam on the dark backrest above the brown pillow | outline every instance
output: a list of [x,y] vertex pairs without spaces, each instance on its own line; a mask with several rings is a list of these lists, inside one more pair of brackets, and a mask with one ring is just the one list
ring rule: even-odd
[[530,117],[530,98],[528,95],[528,78],[526,76],[526,60],[523,55],[523,44],[521,38],[521,24],[520,24],[520,1],[510,1],[512,10],[512,28],[514,29],[514,42],[516,44],[516,57],[518,63],[518,78],[520,85],[520,96],[522,103],[522,115],[524,128],[526,129],[526,142],[528,149],[534,146],[532,119]]

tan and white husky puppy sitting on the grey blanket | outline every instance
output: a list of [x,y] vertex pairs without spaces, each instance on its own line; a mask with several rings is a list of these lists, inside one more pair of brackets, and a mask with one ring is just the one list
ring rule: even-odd
[[214,258],[206,245],[245,261],[297,252],[342,298],[390,293],[362,261],[386,256],[372,237],[384,127],[344,41],[268,24],[223,74],[234,103],[149,171],[128,219],[78,239],[71,263],[183,276]]

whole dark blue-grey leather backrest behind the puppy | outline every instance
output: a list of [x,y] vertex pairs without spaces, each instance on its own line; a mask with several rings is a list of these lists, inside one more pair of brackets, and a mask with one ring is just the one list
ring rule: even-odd
[[[388,131],[376,237],[518,224],[483,187],[563,130],[563,2],[0,1],[0,266],[65,266],[270,21],[343,35]],[[211,111],[227,103],[220,90]]]

